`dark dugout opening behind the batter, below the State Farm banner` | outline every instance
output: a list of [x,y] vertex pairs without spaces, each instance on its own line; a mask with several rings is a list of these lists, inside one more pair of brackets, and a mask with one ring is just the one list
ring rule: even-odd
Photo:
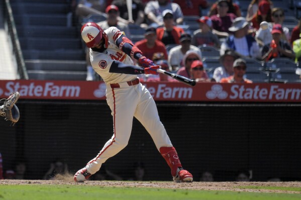
[[[113,135],[106,101],[20,99],[20,121],[0,120],[0,152],[6,169],[27,160],[28,178],[39,179],[51,161],[62,158],[73,173]],[[218,181],[234,180],[238,169],[253,180],[301,180],[301,104],[157,102],[160,119],[184,168],[194,179],[204,170]],[[144,127],[134,119],[128,146],[106,167],[125,179],[144,162],[146,180],[170,180],[170,170]]]

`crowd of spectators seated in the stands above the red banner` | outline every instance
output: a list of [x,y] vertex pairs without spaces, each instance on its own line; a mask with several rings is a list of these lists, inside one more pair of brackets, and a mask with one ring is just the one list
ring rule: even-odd
[[[79,22],[90,16],[104,16],[103,21],[96,22],[104,30],[117,27],[154,63],[159,62],[166,71],[197,82],[225,82],[222,79],[227,78],[228,82],[251,83],[251,80],[237,78],[236,71],[245,77],[248,64],[237,62],[244,64],[234,66],[234,61],[239,58],[266,62],[279,57],[298,62],[301,58],[301,22],[290,32],[283,26],[284,10],[275,8],[270,0],[250,1],[245,17],[242,17],[238,2],[232,0],[215,3],[207,0],[133,0],[132,12],[128,11],[126,2],[73,0],[72,7]],[[187,22],[184,21],[186,17],[193,18]],[[187,29],[187,24],[193,29],[189,26]],[[131,33],[135,30],[133,27],[143,30],[144,38],[137,39],[137,33]],[[208,69],[203,65],[200,46],[212,46],[220,52],[220,67],[214,69],[213,77],[208,76]],[[88,53],[86,62],[86,80],[102,80],[94,73]],[[141,75],[139,78],[141,81],[174,81],[164,76]]]

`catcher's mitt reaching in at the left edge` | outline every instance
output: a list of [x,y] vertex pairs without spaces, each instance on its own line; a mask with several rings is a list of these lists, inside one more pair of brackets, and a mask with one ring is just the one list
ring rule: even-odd
[[4,100],[4,104],[0,106],[0,115],[5,117],[5,120],[10,120],[12,125],[14,126],[15,123],[18,122],[20,118],[20,112],[18,107],[15,105],[20,97],[19,92],[11,93],[11,96],[8,99],[1,99]]

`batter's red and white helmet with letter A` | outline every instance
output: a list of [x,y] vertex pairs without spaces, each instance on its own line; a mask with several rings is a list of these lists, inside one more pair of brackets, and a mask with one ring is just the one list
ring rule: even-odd
[[81,27],[81,38],[88,48],[96,46],[105,38],[105,48],[108,48],[108,36],[104,30],[94,22],[88,22]]

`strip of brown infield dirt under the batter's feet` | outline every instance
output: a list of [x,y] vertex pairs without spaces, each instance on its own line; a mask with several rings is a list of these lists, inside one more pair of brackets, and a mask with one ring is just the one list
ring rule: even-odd
[[[278,189],[256,189],[258,186],[272,187],[299,187],[301,182],[191,182],[175,183],[167,181],[85,181],[75,183],[72,177],[63,177],[60,180],[0,180],[2,184],[72,184],[72,185],[99,185],[115,187],[155,187],[171,189],[197,189],[197,190],[229,190],[229,191],[252,191],[252,192],[281,192],[281,193],[301,193],[301,191],[278,190]],[[254,186],[254,189],[242,189],[241,186]]]

